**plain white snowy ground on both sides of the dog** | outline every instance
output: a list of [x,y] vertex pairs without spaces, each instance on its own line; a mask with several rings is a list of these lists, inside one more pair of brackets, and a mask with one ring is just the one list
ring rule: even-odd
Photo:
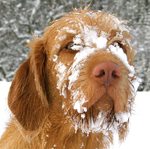
[[[0,136],[5,130],[10,117],[7,107],[9,82],[0,82]],[[138,92],[135,102],[130,131],[127,139],[121,145],[115,143],[111,149],[148,149],[150,148],[150,92]]]

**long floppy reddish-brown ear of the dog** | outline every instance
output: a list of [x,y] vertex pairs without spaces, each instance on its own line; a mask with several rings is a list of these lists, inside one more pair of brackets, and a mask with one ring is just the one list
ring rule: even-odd
[[46,51],[42,39],[31,44],[29,58],[19,67],[8,96],[8,105],[25,130],[36,130],[48,110]]

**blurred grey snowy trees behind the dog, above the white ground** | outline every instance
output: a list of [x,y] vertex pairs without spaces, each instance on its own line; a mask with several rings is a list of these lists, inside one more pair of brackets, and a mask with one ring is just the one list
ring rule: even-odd
[[150,90],[150,0],[0,0],[0,80],[12,80],[33,36],[40,36],[52,20],[89,4],[127,21],[142,79],[138,90]]

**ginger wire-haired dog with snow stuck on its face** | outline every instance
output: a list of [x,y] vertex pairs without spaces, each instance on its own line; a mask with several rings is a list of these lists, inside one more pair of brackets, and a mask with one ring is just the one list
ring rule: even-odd
[[8,95],[1,149],[105,149],[123,141],[135,99],[135,50],[126,25],[74,10],[30,43]]

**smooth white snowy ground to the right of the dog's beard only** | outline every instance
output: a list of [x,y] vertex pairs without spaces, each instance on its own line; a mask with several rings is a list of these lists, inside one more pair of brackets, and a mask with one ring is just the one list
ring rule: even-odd
[[127,138],[122,144],[115,141],[111,149],[148,149],[150,147],[149,105],[150,92],[138,92]]

